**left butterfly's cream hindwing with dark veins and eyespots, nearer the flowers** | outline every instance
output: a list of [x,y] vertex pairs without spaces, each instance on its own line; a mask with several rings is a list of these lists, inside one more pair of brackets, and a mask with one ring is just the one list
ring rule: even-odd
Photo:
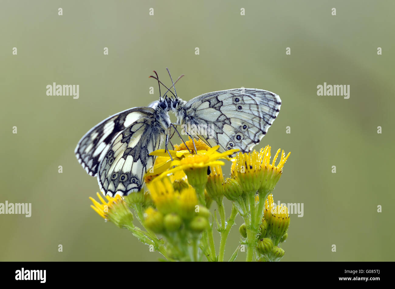
[[141,189],[145,173],[154,165],[163,132],[153,116],[142,117],[114,137],[98,169],[103,194],[126,196]]

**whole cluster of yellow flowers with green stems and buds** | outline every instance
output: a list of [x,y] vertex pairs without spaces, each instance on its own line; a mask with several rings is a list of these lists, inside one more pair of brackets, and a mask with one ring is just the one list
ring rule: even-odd
[[[271,192],[290,154],[285,156],[279,149],[271,162],[269,146],[250,153],[218,149],[190,139],[173,150],[154,151],[154,167],[145,175],[140,192],[124,198],[106,197],[107,202],[98,194],[102,203],[91,198],[92,207],[106,220],[130,229],[170,261],[201,261],[203,257],[224,261],[229,231],[240,214],[245,221],[239,227],[242,239],[229,261],[235,260],[242,246],[247,247],[246,261],[254,257],[257,261],[279,261],[285,253],[280,244],[288,236],[290,218],[286,207],[275,207]],[[275,164],[277,158],[280,161]],[[229,161],[231,172],[224,178],[222,166]],[[226,199],[232,202],[228,218]],[[214,214],[209,210],[212,203],[217,206]],[[134,226],[132,211],[145,230]],[[220,233],[218,252],[214,224]]]

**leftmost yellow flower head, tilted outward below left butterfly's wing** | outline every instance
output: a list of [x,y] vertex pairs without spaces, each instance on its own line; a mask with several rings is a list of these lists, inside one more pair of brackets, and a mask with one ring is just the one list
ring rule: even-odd
[[93,203],[93,205],[90,205],[90,207],[92,207],[96,213],[102,216],[102,218],[113,222],[118,227],[132,224],[132,212],[130,212],[128,205],[121,196],[116,195],[114,198],[105,196],[108,201],[106,202],[99,193],[96,193],[96,195],[102,203],[99,203],[94,198],[89,197]]

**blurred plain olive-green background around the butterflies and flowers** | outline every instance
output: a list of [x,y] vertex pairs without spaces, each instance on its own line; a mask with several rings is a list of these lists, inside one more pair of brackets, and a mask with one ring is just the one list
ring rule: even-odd
[[[186,100],[241,86],[280,95],[278,119],[256,149],[292,152],[274,198],[303,203],[304,216],[291,215],[283,261],[394,260],[394,2],[0,5],[0,202],[32,203],[30,218],[0,215],[0,260],[158,260],[159,253],[90,209],[97,180],[73,151],[105,117],[158,99],[148,76],[155,69],[169,84],[166,67],[173,78],[185,74],[177,93]],[[79,84],[79,99],[47,96],[53,82]],[[317,96],[324,82],[350,85],[350,99]],[[236,223],[226,258],[239,241],[240,217]]]

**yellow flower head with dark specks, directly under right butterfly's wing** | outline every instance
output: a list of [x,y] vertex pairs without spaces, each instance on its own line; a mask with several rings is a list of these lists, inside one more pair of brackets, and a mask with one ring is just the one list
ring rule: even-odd
[[233,160],[231,176],[239,182],[244,192],[255,194],[263,179],[258,152],[238,153]]

